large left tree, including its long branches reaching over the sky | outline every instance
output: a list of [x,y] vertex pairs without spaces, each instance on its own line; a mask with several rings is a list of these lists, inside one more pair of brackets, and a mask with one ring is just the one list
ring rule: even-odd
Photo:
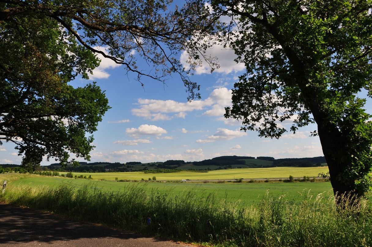
[[[177,58],[182,50],[198,58],[201,51],[189,47],[202,42],[204,49],[208,43],[193,34],[213,33],[211,17],[218,17],[209,15],[203,1],[167,12],[169,4],[0,0],[0,140],[14,142],[24,163],[44,155],[66,163],[69,153],[89,159],[93,137],[86,133],[96,130],[108,100],[94,83],[73,88],[68,82],[88,78],[99,65],[95,54],[122,64],[139,81],[147,76],[164,82],[178,73],[189,97],[198,97],[198,85]],[[134,54],[151,70],[138,68]]]

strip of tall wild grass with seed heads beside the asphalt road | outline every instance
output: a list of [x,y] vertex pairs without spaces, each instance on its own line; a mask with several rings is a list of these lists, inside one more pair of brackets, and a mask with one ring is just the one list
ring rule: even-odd
[[[267,195],[245,208],[238,202],[217,201],[213,195],[148,193],[136,185],[105,192],[91,184],[81,188],[9,186],[0,200],[217,246],[372,246],[371,202],[363,200],[341,210],[328,195],[305,195],[300,203]],[[147,225],[149,217],[151,224]]]

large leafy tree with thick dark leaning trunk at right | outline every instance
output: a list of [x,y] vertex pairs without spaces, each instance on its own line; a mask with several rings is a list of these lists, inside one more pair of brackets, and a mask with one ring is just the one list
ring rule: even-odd
[[[364,195],[371,186],[371,0],[212,0],[231,17],[224,33],[246,65],[226,117],[243,130],[279,138],[315,123],[334,193]],[[363,91],[364,92],[364,91]]]

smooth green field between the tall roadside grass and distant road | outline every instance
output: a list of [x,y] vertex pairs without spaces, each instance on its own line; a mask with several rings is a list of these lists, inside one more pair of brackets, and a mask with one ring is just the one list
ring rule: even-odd
[[[300,201],[305,196],[317,196],[318,193],[329,192],[329,182],[306,182],[306,183],[157,183],[157,182],[113,182],[91,181],[86,179],[67,179],[61,177],[29,176],[9,183],[9,186],[29,185],[58,187],[62,184],[72,187],[90,185],[106,191],[125,190],[128,186],[143,186],[145,190],[158,190],[173,195],[183,194],[189,191],[200,195],[213,194],[218,200],[227,199],[230,202],[240,201],[243,205],[252,205],[261,201],[268,192],[269,195],[279,197],[285,195],[288,200]],[[309,192],[310,191],[310,192]]]

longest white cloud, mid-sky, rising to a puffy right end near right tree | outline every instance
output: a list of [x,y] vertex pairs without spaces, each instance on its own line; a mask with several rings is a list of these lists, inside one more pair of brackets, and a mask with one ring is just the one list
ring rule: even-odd
[[[213,90],[207,99],[192,102],[138,99],[139,108],[132,109],[132,114],[151,121],[185,118],[186,112],[194,110],[206,110],[203,113],[206,116],[222,116],[225,113],[225,106],[231,105],[231,92],[231,90],[221,87]],[[175,114],[167,115],[170,113]]]

